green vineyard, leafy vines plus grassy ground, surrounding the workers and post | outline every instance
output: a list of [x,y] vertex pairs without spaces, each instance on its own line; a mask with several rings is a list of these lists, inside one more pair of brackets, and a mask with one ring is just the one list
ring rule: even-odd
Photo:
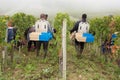
[[[7,44],[5,39],[6,23],[10,19],[14,20],[15,27],[18,28],[16,41],[25,41],[24,31],[32,26],[37,20],[35,16],[16,13],[13,16],[0,16],[0,80],[60,80],[61,72],[59,69],[59,53],[62,45],[62,22],[66,18],[67,23],[67,80],[119,80],[120,79],[120,51],[111,58],[110,54],[106,56],[100,53],[101,44],[108,38],[109,17],[89,20],[90,31],[95,32],[95,41],[86,43],[82,56],[76,57],[74,43],[69,38],[69,31],[74,26],[75,21],[67,13],[57,13],[51,21],[56,29],[55,38],[49,42],[49,51],[47,58],[43,58],[43,47],[40,55],[36,56],[36,51],[27,49],[26,45],[20,49],[13,49],[13,44]],[[74,18],[74,17],[73,17]],[[74,18],[76,19],[76,18]],[[120,31],[120,16],[114,17],[116,21],[115,31]],[[14,43],[14,41],[12,41]],[[115,45],[120,46],[120,34],[115,39]],[[6,56],[3,59],[2,52],[7,46]],[[13,54],[13,62],[11,56]],[[107,57],[107,58],[106,58]]]

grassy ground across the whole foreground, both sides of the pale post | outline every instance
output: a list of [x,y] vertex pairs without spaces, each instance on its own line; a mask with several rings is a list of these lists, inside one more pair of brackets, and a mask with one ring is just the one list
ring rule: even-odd
[[[86,44],[83,55],[76,58],[74,45],[67,45],[67,80],[119,80],[120,69],[116,62],[105,62],[104,56]],[[24,48],[25,49],[25,48]],[[43,59],[43,51],[39,57],[35,52],[14,51],[14,62],[8,57],[5,72],[0,72],[0,80],[58,80],[58,51],[49,49],[47,58]],[[2,56],[0,56],[1,58]],[[0,65],[1,66],[1,65]]]

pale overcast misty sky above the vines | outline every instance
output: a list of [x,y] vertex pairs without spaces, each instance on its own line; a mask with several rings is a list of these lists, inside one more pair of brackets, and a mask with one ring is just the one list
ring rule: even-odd
[[0,0],[0,15],[67,12],[71,16],[120,14],[120,0]]

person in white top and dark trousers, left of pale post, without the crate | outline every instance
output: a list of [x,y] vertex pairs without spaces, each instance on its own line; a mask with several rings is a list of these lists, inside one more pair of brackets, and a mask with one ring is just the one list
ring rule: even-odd
[[[50,23],[47,21],[47,16],[46,14],[40,15],[40,20],[37,21],[35,24],[35,32],[52,32]],[[37,41],[36,42],[37,56],[39,56],[40,47],[41,47],[41,44],[43,44],[43,49],[45,52],[44,58],[46,58],[47,50],[48,50],[48,43],[49,41]]]

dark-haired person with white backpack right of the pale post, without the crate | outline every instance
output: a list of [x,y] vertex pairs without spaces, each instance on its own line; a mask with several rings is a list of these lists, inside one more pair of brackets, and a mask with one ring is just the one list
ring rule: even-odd
[[[87,33],[89,32],[89,24],[87,23],[87,15],[82,14],[82,20],[77,21],[73,27],[73,29],[70,31],[70,33]],[[88,24],[88,26],[81,26],[81,24]],[[80,54],[82,54],[84,49],[85,42],[79,42],[75,39],[75,48],[77,49],[78,53],[77,56],[79,57]]]

